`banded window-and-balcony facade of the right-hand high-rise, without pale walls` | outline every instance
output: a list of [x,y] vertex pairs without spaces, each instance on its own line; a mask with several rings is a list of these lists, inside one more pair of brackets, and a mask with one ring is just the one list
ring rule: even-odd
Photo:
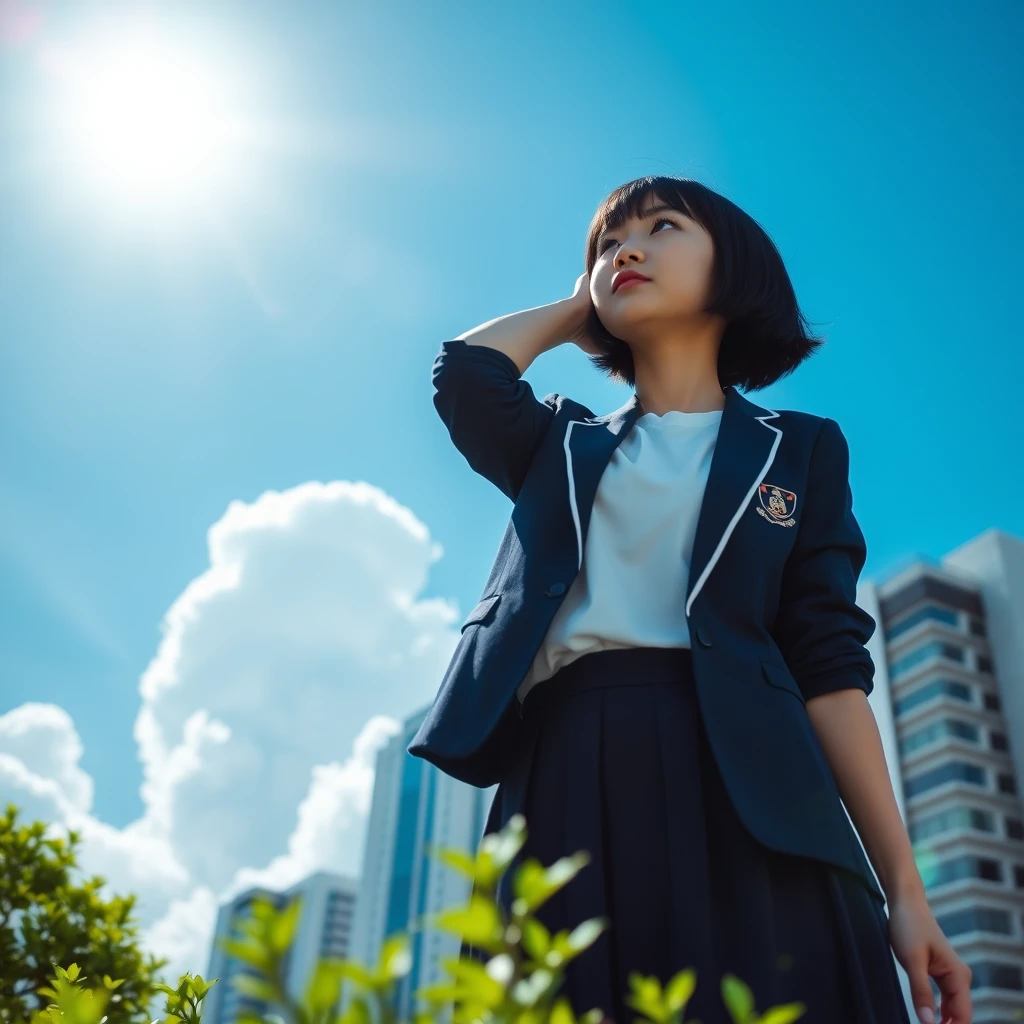
[[[1024,992],[1024,814],[1011,752],[1016,732],[1002,718],[996,677],[1002,655],[991,649],[997,631],[986,617],[983,581],[973,585],[968,572],[963,562],[948,570],[921,563],[878,591],[898,753],[891,767],[901,776],[907,833],[939,927],[963,946],[972,990],[1009,996]],[[927,767],[915,767],[923,757]],[[986,940],[989,947],[979,948]],[[977,997],[974,1005],[993,1024],[1008,1017],[1006,1000],[997,1009]]]

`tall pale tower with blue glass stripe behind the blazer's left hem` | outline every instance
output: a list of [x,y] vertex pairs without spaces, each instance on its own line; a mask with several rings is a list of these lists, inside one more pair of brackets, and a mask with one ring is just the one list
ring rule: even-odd
[[[351,956],[369,965],[386,938],[409,935],[412,968],[395,989],[401,1019],[419,1009],[417,989],[447,977],[443,957],[459,955],[459,938],[433,927],[432,915],[464,906],[470,893],[469,880],[430,856],[428,847],[475,852],[497,788],[467,785],[406,750],[427,710],[407,719],[377,754],[352,935]],[[346,988],[342,1007],[347,1002]]]

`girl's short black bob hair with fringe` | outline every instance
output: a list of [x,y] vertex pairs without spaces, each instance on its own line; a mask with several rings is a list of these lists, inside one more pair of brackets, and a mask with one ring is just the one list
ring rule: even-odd
[[[629,217],[639,217],[648,196],[695,220],[712,238],[715,256],[705,311],[726,319],[718,354],[722,388],[758,390],[793,373],[824,339],[808,334],[790,275],[763,227],[734,203],[692,178],[648,175],[620,185],[600,205],[587,233],[585,263],[593,273],[597,240]],[[591,309],[587,331],[605,349],[591,364],[620,384],[636,385],[633,352]]]

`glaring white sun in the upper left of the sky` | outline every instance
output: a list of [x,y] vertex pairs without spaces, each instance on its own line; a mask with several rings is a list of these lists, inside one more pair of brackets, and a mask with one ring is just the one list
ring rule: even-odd
[[166,27],[106,26],[48,54],[67,185],[121,207],[207,204],[240,172],[245,122],[226,63]]

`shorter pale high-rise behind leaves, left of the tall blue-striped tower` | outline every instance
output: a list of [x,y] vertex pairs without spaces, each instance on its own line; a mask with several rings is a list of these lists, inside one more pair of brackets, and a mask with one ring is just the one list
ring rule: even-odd
[[230,1024],[240,1014],[265,1016],[275,1012],[266,1000],[243,995],[233,984],[239,975],[255,972],[220,946],[225,937],[242,939],[243,923],[252,914],[255,900],[268,900],[279,909],[299,898],[302,908],[295,938],[285,961],[285,987],[301,999],[316,962],[349,955],[351,925],[354,915],[356,882],[341,874],[317,871],[285,892],[249,889],[223,904],[217,912],[217,925],[210,953],[207,980],[218,978],[203,1008],[204,1024]]

